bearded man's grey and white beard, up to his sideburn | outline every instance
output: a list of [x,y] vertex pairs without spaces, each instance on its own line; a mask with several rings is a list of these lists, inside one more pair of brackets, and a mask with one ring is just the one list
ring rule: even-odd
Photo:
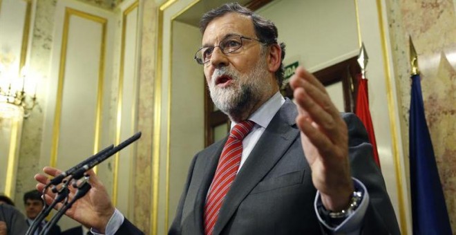
[[[224,88],[216,86],[216,78],[221,75],[231,77],[233,83]],[[267,75],[265,59],[259,59],[255,67],[245,75],[228,67],[217,68],[209,84],[212,101],[231,119],[243,118],[245,112],[251,111],[266,94],[272,92],[272,85],[265,81]]]

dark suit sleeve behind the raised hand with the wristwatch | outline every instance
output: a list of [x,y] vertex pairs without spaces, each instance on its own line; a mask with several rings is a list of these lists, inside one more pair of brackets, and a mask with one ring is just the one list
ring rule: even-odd
[[373,160],[372,145],[365,127],[353,113],[344,114],[343,119],[348,126],[352,176],[363,182],[370,198],[361,225],[361,234],[400,234],[385,181]]

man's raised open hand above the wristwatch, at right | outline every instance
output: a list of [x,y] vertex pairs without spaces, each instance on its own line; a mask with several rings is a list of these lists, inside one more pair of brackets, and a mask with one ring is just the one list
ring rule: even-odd
[[326,209],[348,207],[354,191],[348,160],[348,130],[325,86],[301,66],[289,84],[298,106],[296,124],[301,144],[312,169],[312,182]]

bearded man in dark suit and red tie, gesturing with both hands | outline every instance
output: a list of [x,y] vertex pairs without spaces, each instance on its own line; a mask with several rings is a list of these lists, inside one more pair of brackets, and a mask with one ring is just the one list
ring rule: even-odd
[[[200,26],[196,62],[233,124],[193,158],[169,234],[399,234],[363,124],[303,68],[290,80],[296,104],[279,93],[285,45],[274,23],[228,3]],[[108,198],[98,191],[86,202]],[[85,222],[100,232],[140,233],[110,203],[95,209],[100,219]]]

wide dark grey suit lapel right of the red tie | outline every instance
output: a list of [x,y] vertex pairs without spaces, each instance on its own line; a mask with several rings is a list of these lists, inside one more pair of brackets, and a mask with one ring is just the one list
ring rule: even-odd
[[294,142],[299,133],[295,125],[296,115],[295,104],[286,100],[238,172],[231,189],[229,189],[225,197],[225,202],[220,208],[213,234],[222,232],[223,227],[227,225],[229,219],[251,189],[274,167],[289,148],[289,145]]

